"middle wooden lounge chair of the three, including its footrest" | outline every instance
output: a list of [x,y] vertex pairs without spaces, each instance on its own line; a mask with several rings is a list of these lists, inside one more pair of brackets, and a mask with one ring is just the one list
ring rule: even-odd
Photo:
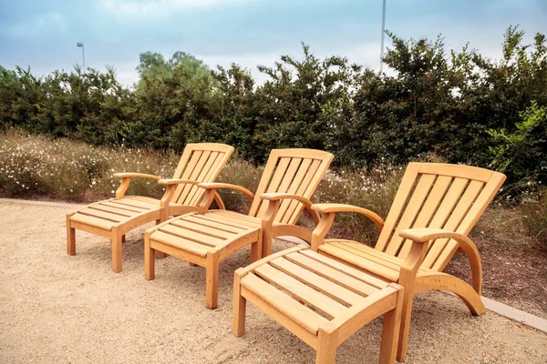
[[[293,235],[311,241],[311,231],[294,225],[325,175],[333,155],[313,149],[274,149],[256,195],[244,187],[201,183],[206,190],[200,211],[171,218],[145,233],[144,275],[155,277],[154,255],[161,251],[206,268],[206,305],[218,304],[219,264],[236,250],[252,245],[252,261],[271,253],[271,238]],[[216,188],[232,188],[253,201],[248,215],[209,210]]]

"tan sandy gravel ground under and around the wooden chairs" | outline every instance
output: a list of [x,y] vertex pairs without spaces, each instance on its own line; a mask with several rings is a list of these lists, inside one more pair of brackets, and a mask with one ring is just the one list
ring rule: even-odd
[[[313,349],[252,305],[246,335],[232,336],[232,276],[248,250],[222,263],[220,307],[209,310],[203,268],[170,257],[155,280],[143,277],[144,228],[128,235],[122,273],[110,270],[105,238],[77,232],[77,255],[67,256],[70,210],[0,203],[0,362],[314,362]],[[337,362],[377,362],[380,332],[377,319],[346,340]],[[491,312],[472,317],[445,293],[415,300],[407,363],[545,362],[539,331]]]

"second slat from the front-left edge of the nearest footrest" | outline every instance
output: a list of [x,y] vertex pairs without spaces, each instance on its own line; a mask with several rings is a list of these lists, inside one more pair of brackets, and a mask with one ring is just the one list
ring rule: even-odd
[[335,318],[347,309],[333,298],[329,298],[314,288],[304,285],[304,283],[288,276],[269,264],[255,268],[254,274],[274,283],[275,286],[284,289],[284,291],[288,292],[294,298],[304,301],[309,306],[322,312],[329,319]]

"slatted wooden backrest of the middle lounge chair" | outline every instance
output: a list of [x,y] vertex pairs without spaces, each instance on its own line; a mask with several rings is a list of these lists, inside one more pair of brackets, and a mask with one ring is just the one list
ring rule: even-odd
[[[311,198],[321,178],[325,176],[333,157],[330,153],[315,149],[272,150],[264,167],[263,177],[256,190],[249,216],[263,217],[268,205],[267,201],[263,203],[260,198],[264,192],[290,193]],[[303,210],[302,203],[285,199],[274,221],[287,225],[295,224]]]

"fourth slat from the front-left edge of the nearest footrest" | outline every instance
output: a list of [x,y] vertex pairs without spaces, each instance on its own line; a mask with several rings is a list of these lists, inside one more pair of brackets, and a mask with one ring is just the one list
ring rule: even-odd
[[353,278],[352,276],[347,275],[343,271],[340,271],[335,268],[331,268],[325,265],[324,263],[321,263],[318,260],[305,256],[304,254],[290,253],[290,254],[287,254],[285,258],[289,259],[294,264],[297,264],[301,267],[304,267],[314,272],[315,274],[319,276],[332,280],[337,285],[347,288],[358,295],[368,296],[378,290],[378,288],[371,286],[363,282],[362,280]]

